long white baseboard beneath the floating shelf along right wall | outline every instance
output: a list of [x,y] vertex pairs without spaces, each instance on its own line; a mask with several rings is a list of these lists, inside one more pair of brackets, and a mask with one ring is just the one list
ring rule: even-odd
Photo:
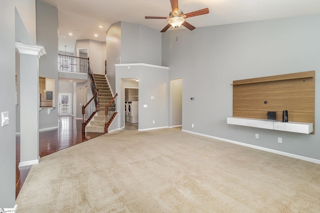
[[184,129],[182,129],[182,131],[188,132],[188,133],[191,133],[191,134],[204,136],[204,137],[217,139],[217,140],[222,140],[222,141],[225,141],[225,142],[230,142],[230,143],[234,143],[234,144],[238,144],[238,145],[243,145],[243,146],[247,146],[247,147],[250,147],[250,148],[259,149],[259,150],[262,150],[262,151],[268,151],[268,152],[272,152],[272,153],[275,153],[275,154],[280,154],[280,155],[293,157],[293,158],[296,158],[296,159],[301,159],[301,160],[305,160],[305,161],[309,161],[309,162],[314,162],[314,163],[320,164],[320,160],[314,159],[314,158],[310,158],[310,157],[305,157],[305,156],[292,154],[292,153],[288,153],[288,152],[284,152],[284,151],[278,151],[278,150],[274,150],[274,149],[271,149],[271,148],[265,148],[265,147],[261,147],[261,146],[257,146],[257,145],[247,144],[247,143],[244,143],[244,142],[238,142],[238,141],[235,141],[235,140],[224,139],[224,138],[221,138],[221,137],[214,137],[214,136],[211,136],[211,135],[201,134],[201,133],[188,131],[188,130],[184,130]]

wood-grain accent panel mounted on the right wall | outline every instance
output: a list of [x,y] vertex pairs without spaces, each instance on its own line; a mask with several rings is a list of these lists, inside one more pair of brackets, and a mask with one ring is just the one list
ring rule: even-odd
[[[288,111],[289,121],[313,123],[315,71],[233,81],[233,116],[266,119],[267,111]],[[267,101],[265,104],[264,101]]]

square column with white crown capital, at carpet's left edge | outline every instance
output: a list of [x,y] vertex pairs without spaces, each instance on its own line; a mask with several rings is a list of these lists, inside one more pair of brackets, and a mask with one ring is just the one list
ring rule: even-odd
[[20,162],[39,162],[39,58],[43,46],[15,43],[20,53]]

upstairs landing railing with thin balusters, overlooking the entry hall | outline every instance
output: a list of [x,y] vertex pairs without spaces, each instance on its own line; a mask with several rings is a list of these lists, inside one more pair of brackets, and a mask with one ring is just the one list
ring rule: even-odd
[[87,73],[88,58],[58,54],[58,70]]

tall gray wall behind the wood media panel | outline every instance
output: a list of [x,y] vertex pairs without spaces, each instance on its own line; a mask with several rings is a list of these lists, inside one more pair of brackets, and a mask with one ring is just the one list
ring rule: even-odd
[[[179,29],[177,41],[175,30],[163,33],[162,65],[169,80],[183,78],[182,129],[320,159],[319,26],[320,15],[309,15]],[[314,135],[226,124],[233,80],[309,70],[316,72]]]

